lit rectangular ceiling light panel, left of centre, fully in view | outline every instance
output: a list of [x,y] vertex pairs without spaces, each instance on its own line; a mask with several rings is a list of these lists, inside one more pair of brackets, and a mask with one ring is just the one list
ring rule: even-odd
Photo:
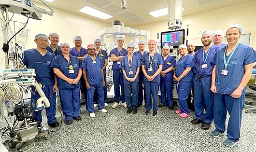
[[89,15],[104,19],[104,20],[113,17],[109,14],[105,14],[105,13],[100,12],[96,9],[93,9],[89,6],[85,6],[84,8],[80,9],[79,11],[82,12],[82,13],[85,13],[85,14],[89,14]]

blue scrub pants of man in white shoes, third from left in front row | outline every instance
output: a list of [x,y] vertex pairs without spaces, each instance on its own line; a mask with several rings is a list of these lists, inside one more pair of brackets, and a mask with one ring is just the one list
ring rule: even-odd
[[93,106],[93,98],[94,93],[97,93],[98,95],[98,101],[99,101],[99,110],[102,110],[104,108],[104,92],[103,92],[103,85],[102,83],[97,85],[91,85],[90,89],[87,89],[87,103],[88,103],[88,109],[87,111],[89,113],[95,112],[95,108]]

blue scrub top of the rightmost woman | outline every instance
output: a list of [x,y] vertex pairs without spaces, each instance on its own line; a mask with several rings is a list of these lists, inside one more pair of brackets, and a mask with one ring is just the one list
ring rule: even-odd
[[[254,49],[251,46],[239,43],[228,63],[228,74],[223,75],[221,74],[221,71],[225,69],[223,56],[226,47],[220,48],[213,58],[213,64],[216,65],[215,86],[217,93],[220,95],[231,94],[242,81],[244,66],[256,61],[256,53]],[[225,56],[226,60],[228,60],[228,56]],[[242,94],[244,93],[245,87],[242,90]]]

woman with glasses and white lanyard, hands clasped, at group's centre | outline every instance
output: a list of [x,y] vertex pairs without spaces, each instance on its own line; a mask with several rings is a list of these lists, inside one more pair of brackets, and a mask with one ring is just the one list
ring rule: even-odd
[[139,83],[139,72],[140,72],[140,59],[138,56],[133,55],[135,46],[129,43],[127,45],[128,55],[124,56],[120,69],[124,73],[124,84],[125,84],[125,98],[128,107],[127,113],[136,114],[138,106],[138,83]]

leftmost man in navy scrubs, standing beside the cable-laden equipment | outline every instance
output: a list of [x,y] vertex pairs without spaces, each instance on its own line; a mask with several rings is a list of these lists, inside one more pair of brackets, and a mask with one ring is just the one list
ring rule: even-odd
[[[53,69],[50,67],[54,55],[46,50],[49,44],[47,35],[37,34],[34,41],[37,44],[37,48],[25,50],[22,53],[22,62],[27,68],[35,69],[36,80],[42,84],[43,92],[50,102],[50,107],[46,108],[47,123],[52,127],[57,127],[59,125],[55,118],[57,79]],[[35,88],[32,87],[31,102],[33,116],[34,119],[41,123],[41,111],[35,111],[36,101],[39,97]]]

